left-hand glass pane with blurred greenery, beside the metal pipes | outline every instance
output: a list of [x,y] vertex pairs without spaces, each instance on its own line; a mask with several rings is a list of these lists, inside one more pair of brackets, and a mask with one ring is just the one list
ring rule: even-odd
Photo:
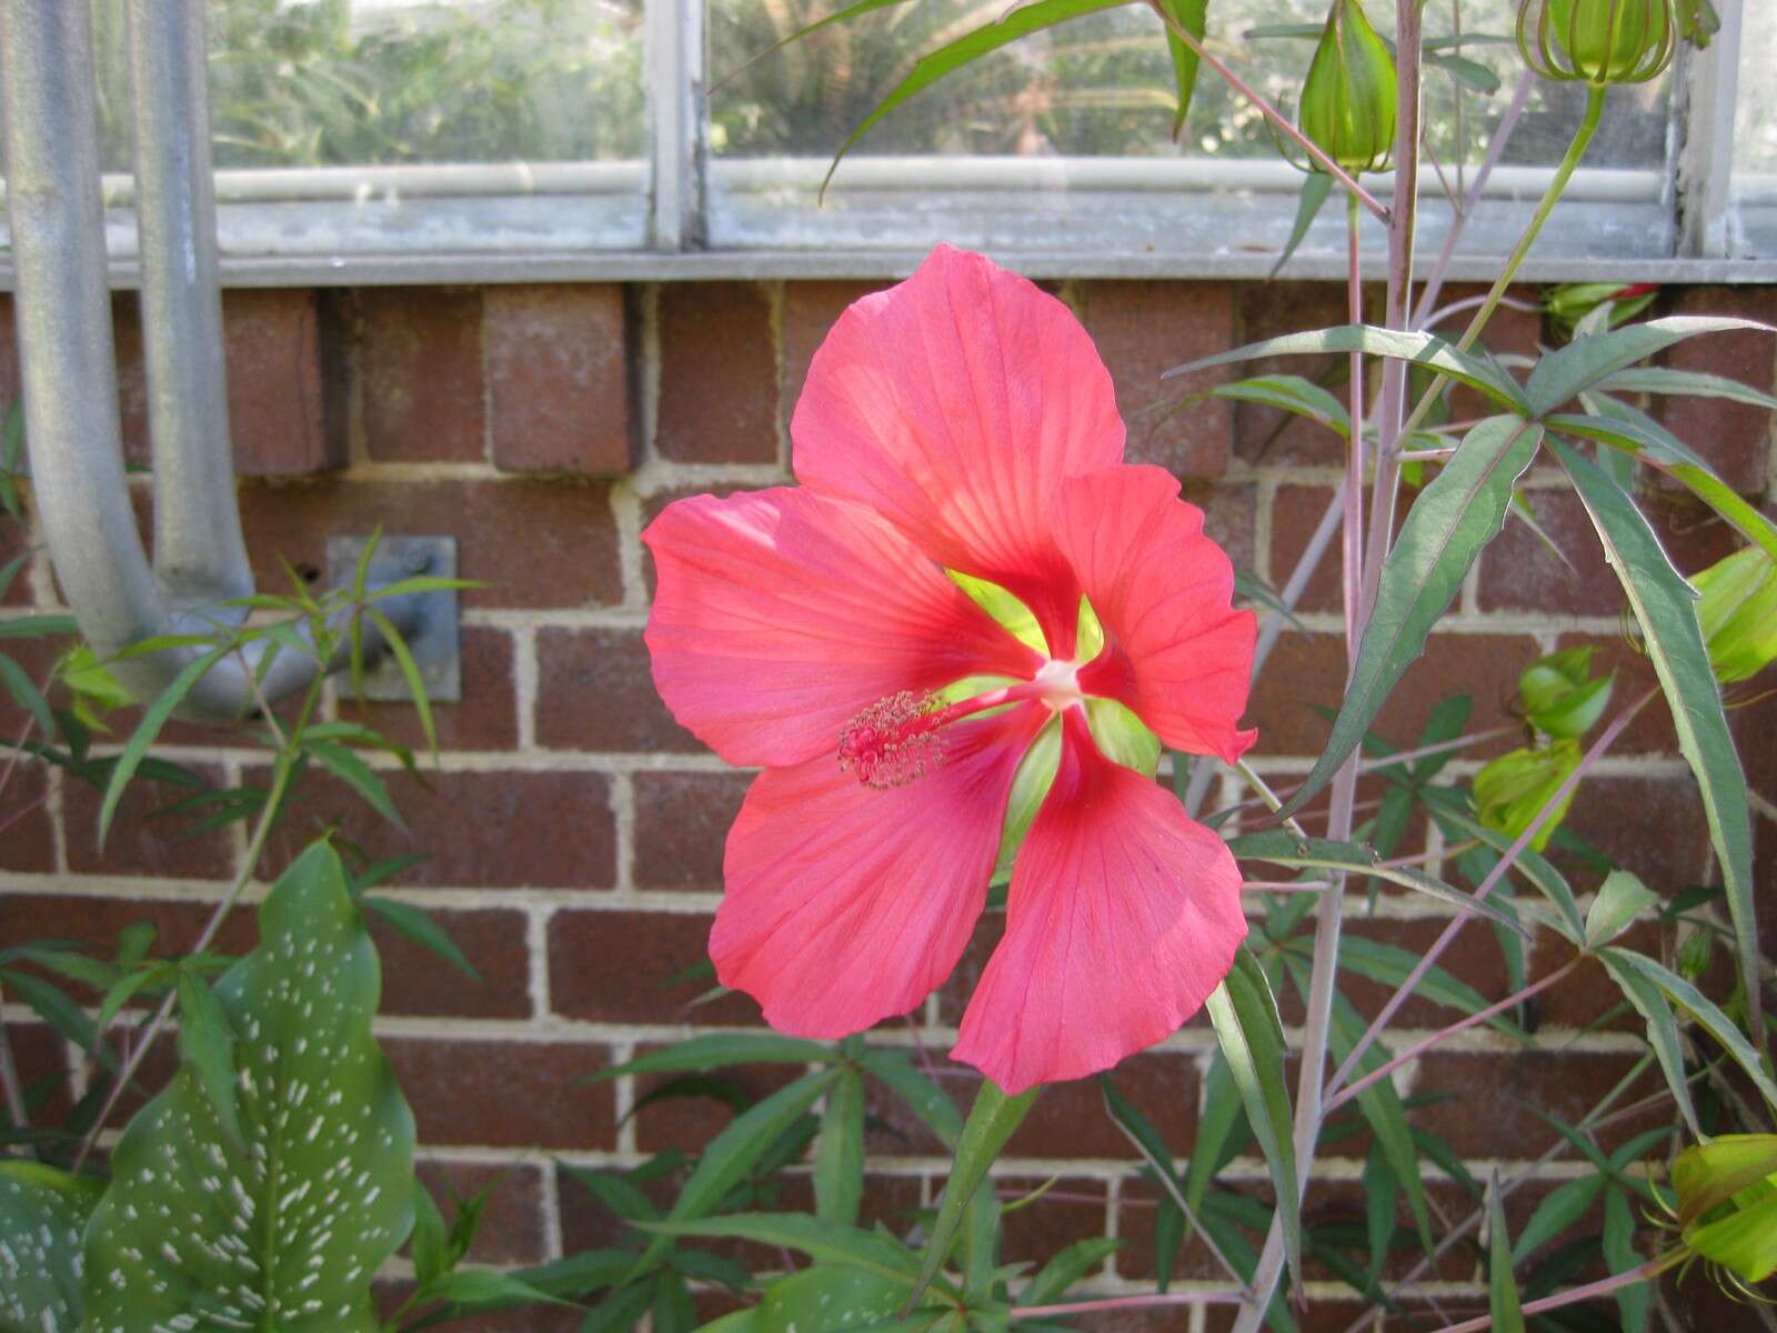
[[[130,169],[123,0],[94,0]],[[641,0],[213,0],[215,164],[604,162],[643,149]]]

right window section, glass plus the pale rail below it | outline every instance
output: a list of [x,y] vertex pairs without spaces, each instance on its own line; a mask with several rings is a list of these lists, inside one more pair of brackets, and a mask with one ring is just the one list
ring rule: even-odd
[[[1279,160],[1279,135],[1205,68],[1175,140],[1166,30],[1141,4],[1031,34],[922,87],[869,128],[817,208],[833,153],[917,76],[922,55],[1020,12],[1011,0],[906,0],[787,41],[839,7],[709,0],[711,243],[906,247],[947,235],[1009,249],[1100,242],[1139,254],[1263,254],[1288,236],[1303,178]],[[1425,178],[1434,194],[1464,187],[1510,105],[1523,71],[1516,9],[1516,0],[1427,4],[1436,43],[1425,124],[1436,167]],[[1215,0],[1208,12],[1208,48],[1294,114],[1327,0]],[[1667,76],[1612,91],[1585,162],[1592,194],[1580,181],[1574,188],[1574,199],[1596,201],[1596,226],[1551,227],[1542,252],[1665,252],[1669,89]],[[1560,160],[1583,107],[1583,89],[1534,84],[1502,156],[1532,171],[1494,176],[1491,196],[1509,204],[1489,199],[1477,210],[1464,251],[1510,247],[1546,180],[1537,169]],[[1439,208],[1450,217],[1429,206],[1429,243],[1445,226]],[[1326,210],[1303,252],[1343,245],[1336,212]]]

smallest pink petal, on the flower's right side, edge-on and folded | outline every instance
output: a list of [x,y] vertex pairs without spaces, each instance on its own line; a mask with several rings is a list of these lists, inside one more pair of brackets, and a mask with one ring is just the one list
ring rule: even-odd
[[1228,762],[1240,730],[1258,620],[1233,610],[1233,565],[1203,535],[1203,510],[1159,467],[1107,467],[1070,482],[1054,510],[1068,555],[1105,627],[1080,688],[1116,698],[1162,741]]

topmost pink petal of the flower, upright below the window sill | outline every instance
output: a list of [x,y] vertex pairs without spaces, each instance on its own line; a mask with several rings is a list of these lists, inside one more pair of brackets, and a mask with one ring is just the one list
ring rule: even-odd
[[[1000,583],[1070,638],[1077,590],[1048,508],[1063,480],[1123,459],[1111,375],[1072,311],[990,259],[938,245],[853,304],[796,416],[796,476],[858,499],[949,569]],[[1048,595],[1045,595],[1048,594]]]

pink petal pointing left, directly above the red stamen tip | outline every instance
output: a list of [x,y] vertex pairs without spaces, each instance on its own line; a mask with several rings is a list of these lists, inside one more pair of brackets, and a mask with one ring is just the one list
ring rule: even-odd
[[693,496],[641,540],[657,572],[654,684],[730,764],[833,754],[885,695],[1038,661],[858,505],[787,487]]

